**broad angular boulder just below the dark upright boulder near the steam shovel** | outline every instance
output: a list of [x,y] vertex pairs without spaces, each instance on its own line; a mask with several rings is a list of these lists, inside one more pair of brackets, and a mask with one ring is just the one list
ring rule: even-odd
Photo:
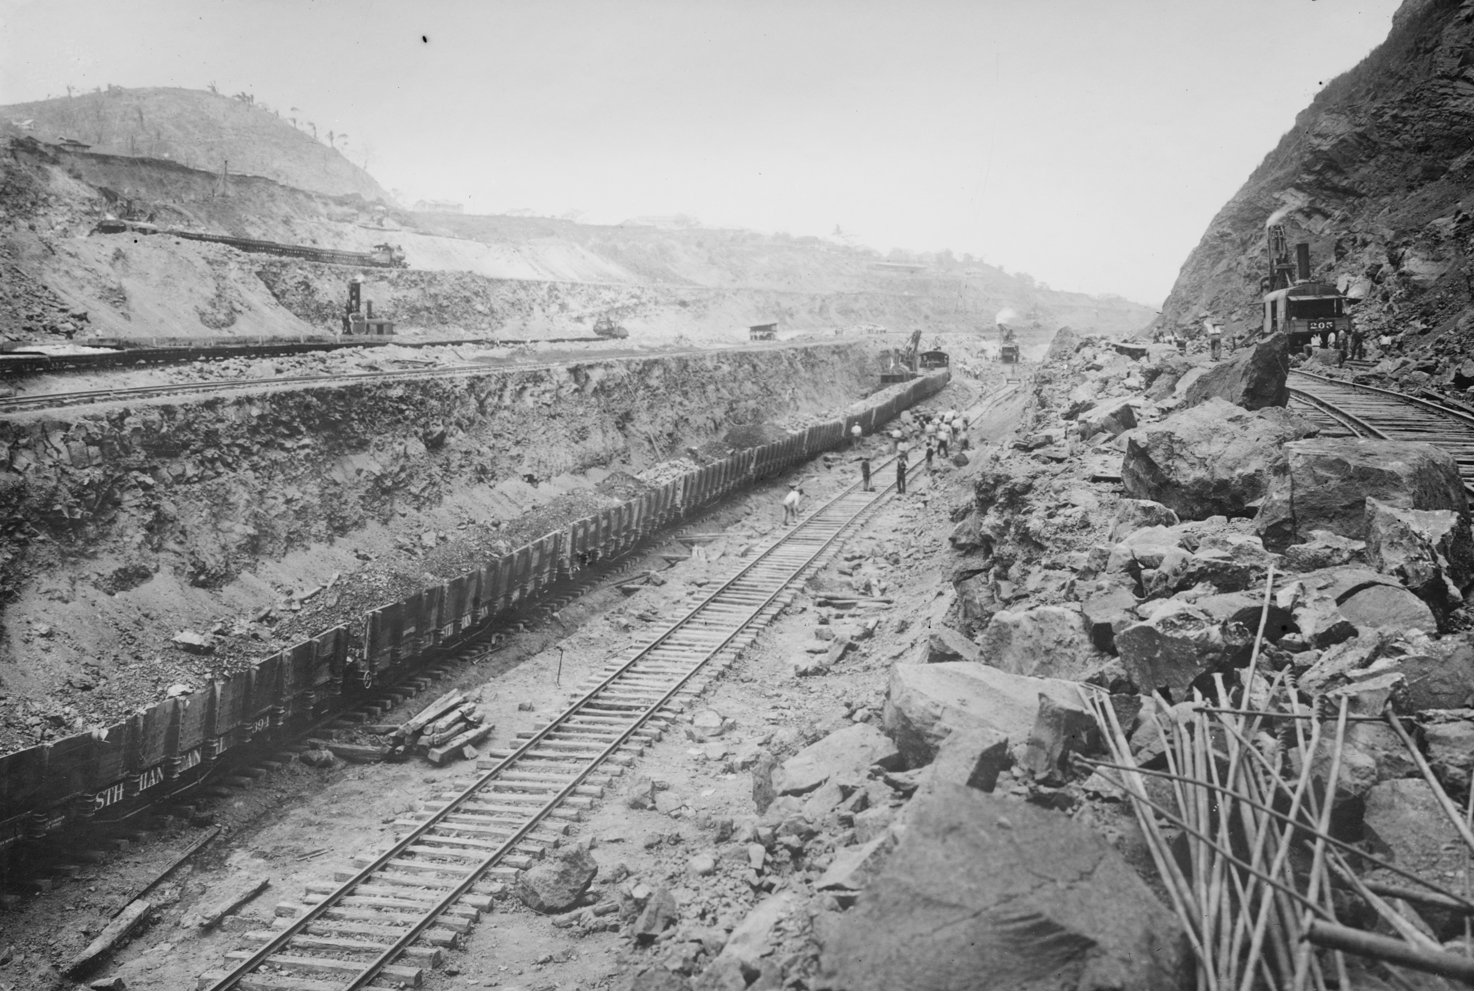
[[1246,515],[1269,487],[1279,448],[1310,433],[1313,424],[1278,406],[1250,412],[1209,399],[1128,434],[1122,484],[1187,520]]

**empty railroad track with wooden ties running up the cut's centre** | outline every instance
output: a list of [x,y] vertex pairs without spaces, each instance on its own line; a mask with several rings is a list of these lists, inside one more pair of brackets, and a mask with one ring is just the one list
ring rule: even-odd
[[[973,418],[1014,392],[1005,387]],[[892,464],[887,458],[877,471]],[[491,751],[483,773],[399,819],[388,850],[354,860],[336,885],[314,885],[284,928],[246,934],[230,970],[200,975],[208,991],[357,991],[419,987],[441,948],[491,909],[483,884],[510,881],[556,848],[572,822],[657,741],[674,713],[750,645],[822,567],[842,539],[893,490],[845,489],[784,530],[677,620],[610,661],[572,704]],[[280,911],[280,909],[279,909]],[[377,984],[376,984],[377,982]]]

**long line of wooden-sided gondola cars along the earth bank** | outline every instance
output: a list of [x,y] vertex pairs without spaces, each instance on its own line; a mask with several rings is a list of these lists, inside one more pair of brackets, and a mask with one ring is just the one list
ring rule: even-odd
[[637,499],[578,520],[407,599],[382,605],[198,692],[167,698],[108,727],[0,757],[0,850],[68,823],[118,819],[255,757],[315,720],[395,682],[438,649],[481,633],[544,592],[730,492],[837,448],[856,423],[870,433],[948,374],[909,383],[845,420],[690,471]]

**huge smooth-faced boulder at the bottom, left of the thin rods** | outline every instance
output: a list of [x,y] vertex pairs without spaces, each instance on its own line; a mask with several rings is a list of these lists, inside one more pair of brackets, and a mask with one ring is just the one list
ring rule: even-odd
[[1100,835],[1058,813],[939,786],[850,911],[820,929],[848,991],[1169,991],[1181,926]]

